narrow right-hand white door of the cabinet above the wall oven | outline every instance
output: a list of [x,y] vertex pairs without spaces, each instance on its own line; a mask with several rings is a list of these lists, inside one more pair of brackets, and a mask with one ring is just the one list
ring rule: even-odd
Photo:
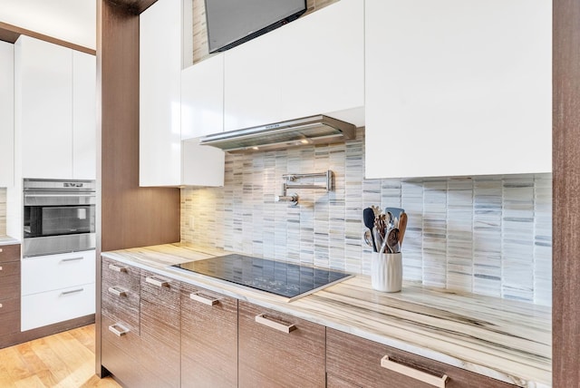
[[73,51],[73,178],[96,179],[96,58]]

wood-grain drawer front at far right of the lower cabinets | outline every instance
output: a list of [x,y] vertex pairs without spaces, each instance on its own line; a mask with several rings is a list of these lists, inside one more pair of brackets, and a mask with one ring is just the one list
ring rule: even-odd
[[[391,361],[396,364],[403,365],[403,373],[382,367],[382,358],[385,355],[388,355]],[[353,383],[354,386],[370,388],[391,386],[391,384],[392,386],[432,388],[432,384],[423,383],[416,377],[408,375],[423,375],[421,373],[434,376],[436,380],[447,375],[446,388],[515,387],[515,385],[503,383],[478,373],[442,364],[331,328],[326,329],[326,370],[329,375],[332,374],[347,383]]]

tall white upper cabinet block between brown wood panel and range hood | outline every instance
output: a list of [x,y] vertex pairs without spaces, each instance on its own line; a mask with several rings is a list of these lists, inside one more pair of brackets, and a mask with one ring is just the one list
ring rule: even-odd
[[196,141],[223,131],[223,58],[182,75],[181,6],[159,0],[140,14],[140,186],[223,186],[224,152]]

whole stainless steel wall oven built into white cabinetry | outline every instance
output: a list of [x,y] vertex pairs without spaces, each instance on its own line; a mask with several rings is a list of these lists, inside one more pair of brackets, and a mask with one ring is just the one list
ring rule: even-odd
[[95,247],[94,180],[24,179],[24,257]]

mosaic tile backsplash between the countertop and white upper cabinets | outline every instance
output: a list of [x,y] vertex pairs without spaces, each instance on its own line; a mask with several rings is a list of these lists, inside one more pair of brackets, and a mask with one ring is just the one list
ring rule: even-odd
[[[551,174],[363,179],[363,137],[227,154],[223,188],[181,189],[182,242],[369,275],[362,209],[401,207],[405,279],[551,306]],[[283,174],[325,170],[333,191],[296,189],[295,208],[275,202]]]

